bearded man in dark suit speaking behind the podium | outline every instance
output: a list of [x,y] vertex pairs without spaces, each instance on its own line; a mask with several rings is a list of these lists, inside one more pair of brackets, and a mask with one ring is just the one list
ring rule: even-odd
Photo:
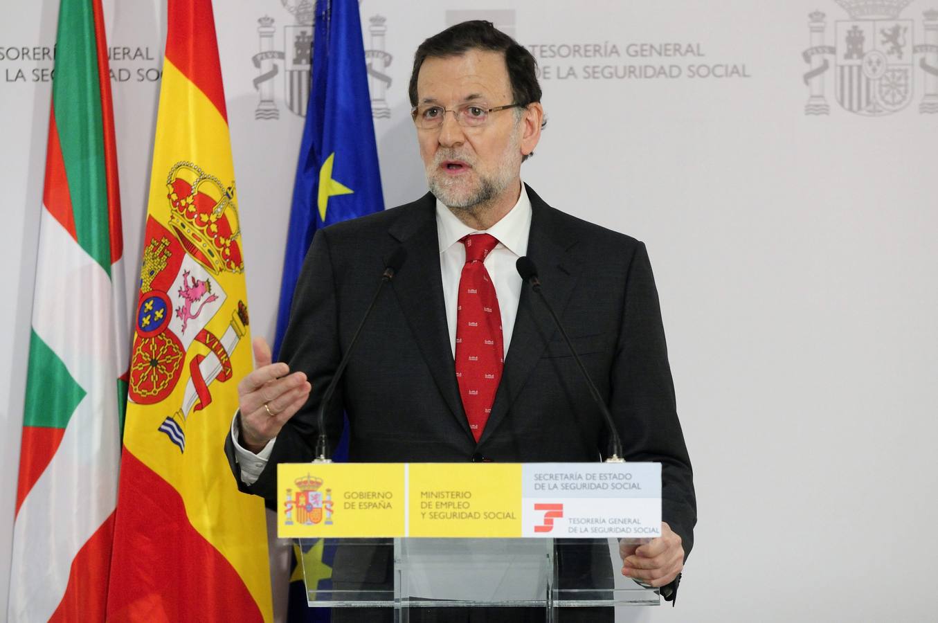
[[[424,41],[410,95],[431,193],[317,232],[296,286],[286,363],[271,363],[258,342],[258,368],[239,386],[226,442],[239,486],[275,500],[277,463],[314,458],[325,387],[399,247],[406,262],[326,410],[333,443],[344,410],[355,462],[604,457],[603,418],[549,312],[514,271],[527,255],[613,413],[626,458],[662,463],[662,536],[623,547],[622,571],[673,599],[696,509],[643,244],[522,185],[522,160],[544,120],[535,61],[491,23]],[[598,615],[582,620],[612,620]]]

